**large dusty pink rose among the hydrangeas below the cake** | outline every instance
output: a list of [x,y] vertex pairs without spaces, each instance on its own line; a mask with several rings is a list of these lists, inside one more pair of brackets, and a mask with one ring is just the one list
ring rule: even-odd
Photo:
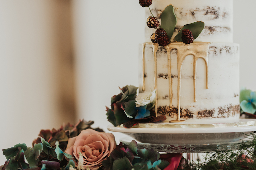
[[79,152],[84,158],[84,168],[98,169],[110,153],[115,149],[116,141],[112,133],[98,132],[85,129],[76,136],[69,138],[66,153],[72,155],[76,167],[78,166]]

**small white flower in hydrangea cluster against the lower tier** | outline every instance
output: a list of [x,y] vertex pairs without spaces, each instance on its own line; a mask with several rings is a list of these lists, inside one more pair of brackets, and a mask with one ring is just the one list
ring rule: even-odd
[[145,106],[147,104],[151,104],[152,107],[154,107],[156,103],[156,89],[153,92],[139,93],[135,100],[136,107]]

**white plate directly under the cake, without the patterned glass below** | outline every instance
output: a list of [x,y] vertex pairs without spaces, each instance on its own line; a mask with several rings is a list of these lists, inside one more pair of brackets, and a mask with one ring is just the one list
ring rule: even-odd
[[108,130],[122,132],[144,144],[207,145],[250,141],[250,132],[256,131],[256,119],[236,122],[210,123],[146,123],[132,128],[108,126]]

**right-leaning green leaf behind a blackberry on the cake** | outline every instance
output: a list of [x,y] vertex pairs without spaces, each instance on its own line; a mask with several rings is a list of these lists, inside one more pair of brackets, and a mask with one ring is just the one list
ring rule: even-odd
[[195,40],[198,37],[198,35],[203,31],[204,22],[197,21],[197,22],[193,22],[191,24],[187,24],[185,26],[182,26],[180,28],[179,33],[174,37],[174,39],[173,39],[174,42],[182,42],[181,33],[182,33],[182,30],[184,30],[184,29],[188,29],[189,31],[191,31],[191,33],[193,34],[194,40]]

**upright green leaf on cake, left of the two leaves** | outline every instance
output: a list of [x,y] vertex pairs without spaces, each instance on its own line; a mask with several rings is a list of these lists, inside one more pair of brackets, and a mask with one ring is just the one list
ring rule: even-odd
[[161,15],[161,28],[166,31],[169,40],[172,38],[177,19],[172,4],[167,6]]

